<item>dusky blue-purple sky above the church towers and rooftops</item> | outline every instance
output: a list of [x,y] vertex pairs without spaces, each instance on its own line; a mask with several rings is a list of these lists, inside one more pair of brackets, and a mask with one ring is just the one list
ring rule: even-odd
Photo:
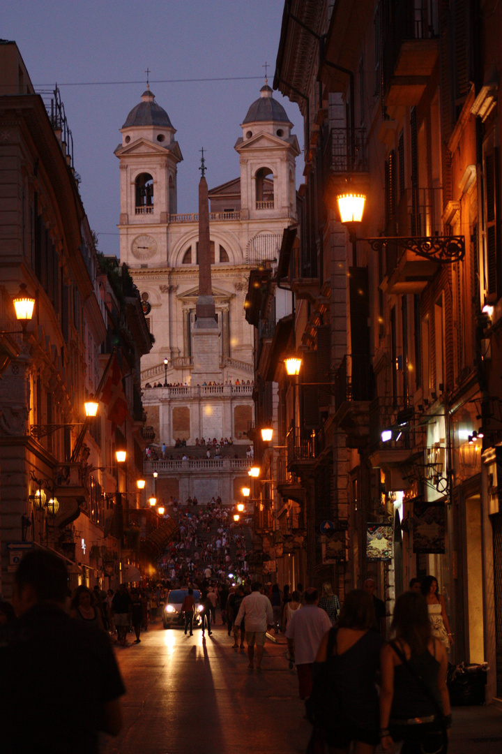
[[[248,107],[260,96],[265,62],[272,86],[283,8],[284,0],[0,0],[0,37],[17,42],[37,90],[59,87],[81,196],[104,253],[118,254],[114,149],[146,88],[147,67],[184,158],[178,165],[178,212],[196,212],[201,147],[210,189],[239,176],[233,145]],[[196,78],[230,80],[179,81]],[[274,97],[303,150],[300,110],[280,93]],[[303,152],[297,185],[302,173]]]

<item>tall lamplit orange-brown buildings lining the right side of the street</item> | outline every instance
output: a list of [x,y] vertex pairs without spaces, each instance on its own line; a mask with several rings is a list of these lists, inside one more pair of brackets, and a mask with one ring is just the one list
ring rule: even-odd
[[[376,578],[389,621],[409,579],[434,575],[452,661],[488,662],[488,698],[502,689],[497,34],[485,2],[285,3],[274,86],[303,112],[306,181],[263,293],[294,293],[291,338],[256,379],[266,394],[275,376],[257,413],[278,406],[286,446],[274,478],[290,499],[263,530],[277,572],[290,509],[302,581]],[[347,194],[366,196],[348,229]]]

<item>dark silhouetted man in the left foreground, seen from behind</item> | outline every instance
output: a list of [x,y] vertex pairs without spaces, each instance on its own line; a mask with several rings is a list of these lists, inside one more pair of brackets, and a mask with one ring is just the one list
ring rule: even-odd
[[125,693],[105,631],[65,611],[68,574],[45,550],[24,556],[18,618],[0,635],[2,754],[98,754],[98,733],[122,728]]

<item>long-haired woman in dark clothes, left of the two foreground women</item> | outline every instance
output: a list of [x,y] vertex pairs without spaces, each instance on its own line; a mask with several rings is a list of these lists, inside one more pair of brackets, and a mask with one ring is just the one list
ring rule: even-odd
[[[342,714],[333,716],[325,731],[330,754],[373,754],[379,743],[379,698],[376,675],[382,636],[371,630],[375,622],[373,599],[362,589],[345,596],[338,627],[321,639],[317,662],[328,662]],[[331,632],[336,632],[333,654],[327,656]]]

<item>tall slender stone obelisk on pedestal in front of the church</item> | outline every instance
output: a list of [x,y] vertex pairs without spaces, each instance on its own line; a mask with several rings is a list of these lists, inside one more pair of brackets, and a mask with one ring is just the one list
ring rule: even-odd
[[205,180],[204,152],[199,182],[199,297],[193,324],[193,372],[191,383],[220,382],[220,328],[211,284],[211,243],[209,239],[208,184]]

